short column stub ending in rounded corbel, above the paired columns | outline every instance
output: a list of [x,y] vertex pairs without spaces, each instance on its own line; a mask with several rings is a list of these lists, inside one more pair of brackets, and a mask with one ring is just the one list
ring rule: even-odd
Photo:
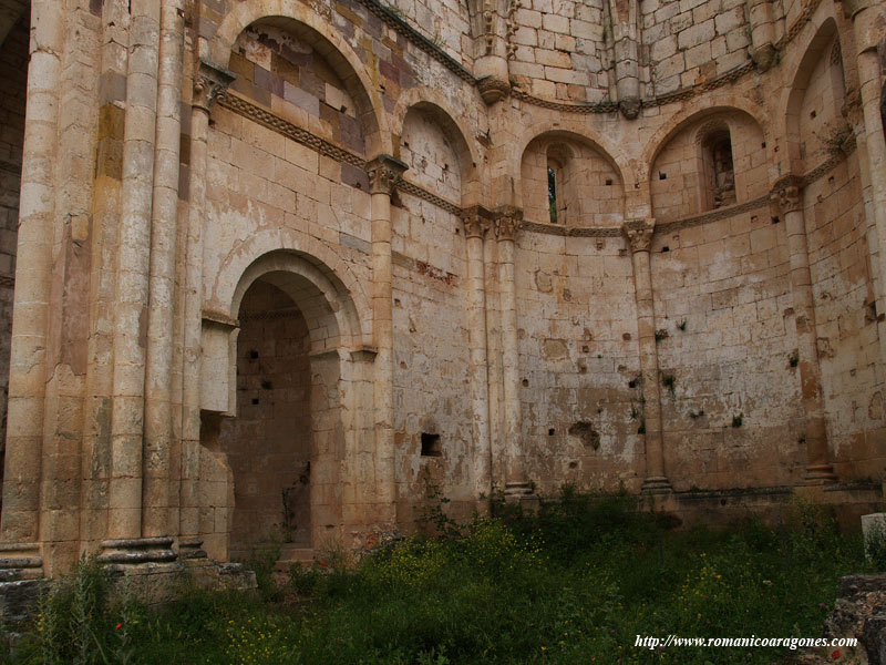
[[483,0],[482,38],[474,75],[483,101],[492,105],[511,94],[507,60],[513,58],[511,38],[516,30],[514,12],[517,0]]

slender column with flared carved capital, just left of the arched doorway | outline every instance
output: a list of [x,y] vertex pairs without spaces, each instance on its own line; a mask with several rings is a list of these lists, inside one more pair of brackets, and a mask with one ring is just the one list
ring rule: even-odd
[[203,329],[203,225],[206,214],[206,153],[209,109],[234,74],[200,62],[190,105],[190,181],[188,183],[187,270],[182,368],[182,484],[179,487],[178,553],[205,555],[199,540],[200,473],[200,338]]

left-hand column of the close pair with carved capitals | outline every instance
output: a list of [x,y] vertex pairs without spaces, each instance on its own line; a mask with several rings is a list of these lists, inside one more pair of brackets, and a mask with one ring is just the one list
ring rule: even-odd
[[492,447],[490,432],[490,380],[486,354],[486,275],[483,239],[492,213],[482,206],[465,211],[464,236],[467,253],[467,346],[471,358],[472,438],[474,441],[474,491],[477,498],[492,495]]

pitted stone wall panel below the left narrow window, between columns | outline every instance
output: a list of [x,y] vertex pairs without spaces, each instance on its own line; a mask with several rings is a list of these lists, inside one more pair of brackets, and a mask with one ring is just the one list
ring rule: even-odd
[[526,234],[516,260],[521,409],[530,478],[636,491],[643,406],[624,241]]

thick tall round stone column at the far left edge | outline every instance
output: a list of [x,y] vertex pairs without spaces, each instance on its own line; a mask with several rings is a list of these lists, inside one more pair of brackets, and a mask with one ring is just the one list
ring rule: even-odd
[[[38,571],[40,472],[43,449],[45,349],[52,274],[54,168],[64,8],[31,2],[31,60],[16,262],[0,553],[20,560],[3,567]],[[27,564],[27,565],[24,565]]]

